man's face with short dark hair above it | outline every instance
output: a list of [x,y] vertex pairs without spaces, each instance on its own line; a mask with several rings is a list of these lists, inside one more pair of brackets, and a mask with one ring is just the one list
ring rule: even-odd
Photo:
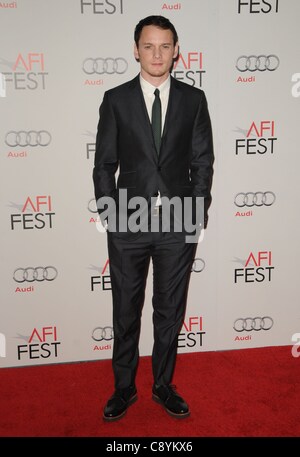
[[142,29],[139,45],[134,46],[134,57],[140,61],[141,75],[150,83],[161,83],[168,77],[177,54],[178,43],[174,46],[171,30],[154,25]]

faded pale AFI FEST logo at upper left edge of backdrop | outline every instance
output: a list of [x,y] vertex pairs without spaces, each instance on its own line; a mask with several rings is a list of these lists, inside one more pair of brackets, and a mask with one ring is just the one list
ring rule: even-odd
[[[43,53],[29,52],[27,54],[19,53],[15,62],[1,60],[11,71],[1,71],[5,81],[1,83],[1,93],[6,93],[8,87],[14,90],[37,90],[46,89],[45,58]],[[2,95],[3,96],[3,95]],[[4,95],[5,96],[5,95]]]

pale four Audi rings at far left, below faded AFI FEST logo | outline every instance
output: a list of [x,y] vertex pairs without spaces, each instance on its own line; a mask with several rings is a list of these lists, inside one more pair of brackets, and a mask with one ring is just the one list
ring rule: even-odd
[[20,130],[16,132],[11,130],[6,134],[5,143],[10,148],[15,148],[16,146],[21,146],[25,148],[26,146],[48,146],[51,142],[51,134],[47,130]]

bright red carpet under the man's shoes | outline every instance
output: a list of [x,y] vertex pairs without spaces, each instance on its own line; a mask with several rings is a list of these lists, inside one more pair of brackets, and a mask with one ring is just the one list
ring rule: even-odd
[[151,399],[150,362],[140,359],[138,401],[114,423],[102,420],[110,360],[2,368],[0,436],[300,436],[300,358],[289,346],[180,354],[174,384],[191,409],[182,420]]

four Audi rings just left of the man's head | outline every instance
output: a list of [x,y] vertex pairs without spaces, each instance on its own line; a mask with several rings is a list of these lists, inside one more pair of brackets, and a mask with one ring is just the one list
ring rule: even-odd
[[97,57],[93,59],[92,57],[88,57],[83,61],[82,69],[84,73],[87,75],[113,75],[118,74],[122,75],[128,68],[127,60],[123,57],[106,57],[103,59],[102,57]]

